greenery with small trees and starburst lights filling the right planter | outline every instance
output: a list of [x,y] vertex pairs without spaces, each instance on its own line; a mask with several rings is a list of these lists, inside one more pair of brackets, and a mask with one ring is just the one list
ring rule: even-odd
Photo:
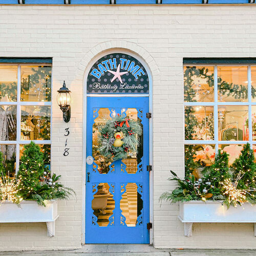
[[228,207],[238,204],[256,204],[256,164],[249,143],[244,145],[240,157],[228,167],[228,154],[219,151],[215,163],[206,166],[204,176],[197,179],[193,174],[184,179],[170,171],[178,186],[172,192],[165,192],[160,200],[171,203],[191,200],[221,200]]

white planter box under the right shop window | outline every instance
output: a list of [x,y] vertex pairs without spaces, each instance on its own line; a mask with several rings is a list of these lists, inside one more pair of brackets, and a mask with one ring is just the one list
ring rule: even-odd
[[184,223],[184,234],[192,236],[192,225],[195,222],[208,223],[254,223],[256,236],[256,205],[248,203],[237,207],[222,205],[218,201],[189,201],[179,203],[179,216]]

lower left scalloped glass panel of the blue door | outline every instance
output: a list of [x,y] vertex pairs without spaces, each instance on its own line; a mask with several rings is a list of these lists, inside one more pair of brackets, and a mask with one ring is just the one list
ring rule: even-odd
[[92,224],[96,225],[95,222],[97,222],[100,227],[106,227],[109,224],[114,225],[114,184],[93,184],[93,194],[92,209],[94,216]]

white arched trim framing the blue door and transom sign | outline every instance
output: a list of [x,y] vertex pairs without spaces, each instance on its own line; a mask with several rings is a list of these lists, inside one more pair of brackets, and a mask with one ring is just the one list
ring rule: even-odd
[[[87,94],[87,77],[90,72],[90,69],[95,61],[100,59],[101,57],[111,54],[111,53],[123,53],[129,54],[136,59],[138,59],[143,67],[145,68],[147,75],[148,75],[148,82],[149,82],[149,94]],[[133,53],[132,51],[123,49],[123,48],[112,48],[106,51],[103,51],[97,55],[95,55],[88,63],[86,67],[86,71],[84,72],[83,76],[83,135],[82,135],[82,244],[85,244],[86,241],[86,132],[87,132],[87,97],[149,97],[149,110],[150,112],[153,111],[153,78],[152,73],[147,65],[147,63],[140,57],[139,54]],[[154,113],[152,113],[153,117]],[[150,129],[150,165],[153,166],[153,118],[149,120],[149,129]],[[153,171],[150,172],[150,222],[154,222],[153,214],[154,214],[154,198],[153,198]],[[153,244],[153,232],[154,230],[154,223],[153,227],[150,230],[150,244]]]

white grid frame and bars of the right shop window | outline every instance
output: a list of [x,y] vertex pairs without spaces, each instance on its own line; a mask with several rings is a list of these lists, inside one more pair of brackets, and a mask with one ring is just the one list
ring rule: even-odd
[[[218,67],[247,67],[247,95],[248,101],[247,102],[219,102],[218,101]],[[248,65],[248,64],[220,64],[220,65],[209,65],[206,63],[197,63],[197,64],[184,64],[183,67],[214,67],[214,102],[185,102],[184,101],[184,110],[185,113],[185,106],[213,106],[214,107],[214,140],[184,140],[184,145],[215,145],[215,152],[218,154],[219,144],[246,144],[250,143],[250,147],[252,145],[256,145],[256,140],[252,140],[252,122],[251,122],[251,106],[256,106],[256,102],[252,102],[251,96],[251,67],[255,67],[255,65]],[[183,73],[184,74],[184,73]],[[184,79],[183,79],[184,81]],[[184,84],[183,84],[184,88]],[[248,106],[248,127],[249,127],[249,140],[218,140],[218,106],[221,105],[228,105],[228,106]],[[185,120],[184,120],[185,124]],[[185,126],[184,126],[185,127]]]

